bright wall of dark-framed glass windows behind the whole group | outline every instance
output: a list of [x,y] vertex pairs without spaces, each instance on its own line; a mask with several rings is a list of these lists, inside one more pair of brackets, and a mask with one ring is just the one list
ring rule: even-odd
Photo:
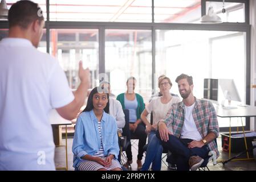
[[[112,93],[126,90],[129,76],[148,102],[164,74],[173,82],[181,73],[193,76],[194,95],[204,97],[204,78],[234,80],[242,104],[255,105],[256,2],[253,0],[33,0],[46,21],[38,49],[58,59],[72,89],[79,84],[78,63],[91,71],[91,88],[106,73]],[[16,2],[7,0],[8,9]],[[220,24],[200,22],[209,6]],[[225,7],[226,12],[222,13]],[[0,40],[8,35],[0,20]],[[246,120],[245,118],[243,118]],[[221,131],[229,122],[220,118]],[[237,119],[232,126],[241,126]],[[254,118],[246,130],[256,130]]]

